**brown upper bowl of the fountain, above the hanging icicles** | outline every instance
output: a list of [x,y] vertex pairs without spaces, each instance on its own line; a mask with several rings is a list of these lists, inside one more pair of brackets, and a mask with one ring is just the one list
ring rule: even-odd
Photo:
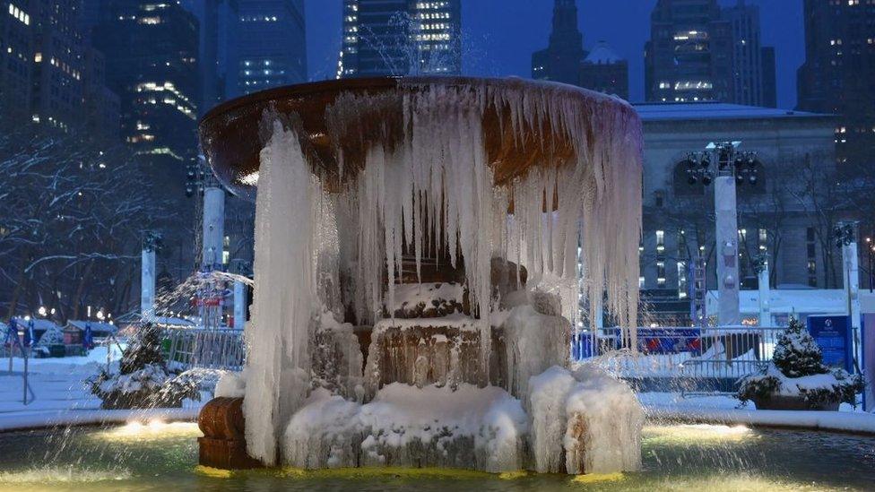
[[[271,115],[285,115],[289,117],[286,124],[294,125],[302,135],[301,145],[315,170],[326,177],[348,179],[364,165],[372,143],[402,138],[408,123],[405,98],[423,91],[439,92],[439,104],[446,111],[478,108],[489,165],[498,183],[523,174],[531,166],[567,160],[584,150],[576,148],[580,142],[592,145],[593,134],[574,135],[569,133],[573,129],[554,128],[558,119],[542,118],[550,113],[586,108],[577,119],[591,121],[613,115],[630,120],[630,130],[640,128],[635,109],[626,101],[566,84],[519,78],[380,77],[304,83],[230,100],[202,119],[201,144],[222,184],[238,196],[254,200],[259,154],[271,137]],[[496,104],[489,95],[499,93],[507,100]],[[372,96],[372,104],[367,108],[358,105],[348,112],[336,108],[360,96]],[[519,101],[524,101],[524,106]],[[518,114],[520,108],[531,114]],[[517,125],[526,125],[530,118],[540,118],[542,125],[527,127],[526,137],[516,138],[514,130],[522,129]],[[629,134],[628,143],[634,144],[638,136]]]

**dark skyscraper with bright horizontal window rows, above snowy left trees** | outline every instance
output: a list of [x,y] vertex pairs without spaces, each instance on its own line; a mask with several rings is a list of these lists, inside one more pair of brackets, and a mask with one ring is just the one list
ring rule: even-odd
[[92,39],[121,98],[123,138],[182,186],[197,155],[197,20],[177,3],[117,0],[104,6]]

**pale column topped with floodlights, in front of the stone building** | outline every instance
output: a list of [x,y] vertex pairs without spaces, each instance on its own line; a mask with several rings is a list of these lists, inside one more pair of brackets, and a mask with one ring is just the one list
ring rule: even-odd
[[717,323],[741,324],[739,310],[737,185],[758,183],[757,154],[739,151],[741,142],[711,142],[686,161],[690,185],[714,183],[717,256]]

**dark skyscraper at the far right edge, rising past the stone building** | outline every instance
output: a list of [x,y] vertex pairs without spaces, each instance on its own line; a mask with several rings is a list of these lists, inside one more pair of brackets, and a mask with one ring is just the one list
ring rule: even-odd
[[805,64],[798,73],[805,111],[840,115],[839,161],[871,163],[875,149],[875,8],[859,0],[805,0]]

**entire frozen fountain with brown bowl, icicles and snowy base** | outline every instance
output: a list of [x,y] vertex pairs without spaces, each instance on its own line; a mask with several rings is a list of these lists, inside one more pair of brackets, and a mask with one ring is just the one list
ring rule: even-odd
[[256,200],[247,368],[204,407],[202,464],[640,466],[634,394],[568,367],[578,276],[634,347],[626,102],[518,79],[317,82],[230,101],[200,132]]

